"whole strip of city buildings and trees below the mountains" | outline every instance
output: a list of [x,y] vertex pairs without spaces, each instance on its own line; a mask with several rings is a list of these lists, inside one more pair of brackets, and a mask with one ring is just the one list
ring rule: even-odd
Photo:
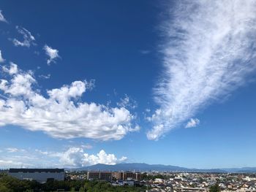
[[256,191],[256,174],[9,169],[0,191]]

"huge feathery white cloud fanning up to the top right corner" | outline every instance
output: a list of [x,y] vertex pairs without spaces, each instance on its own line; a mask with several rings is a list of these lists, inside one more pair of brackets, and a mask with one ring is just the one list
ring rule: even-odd
[[164,70],[148,139],[243,85],[256,68],[256,1],[176,1],[162,25]]

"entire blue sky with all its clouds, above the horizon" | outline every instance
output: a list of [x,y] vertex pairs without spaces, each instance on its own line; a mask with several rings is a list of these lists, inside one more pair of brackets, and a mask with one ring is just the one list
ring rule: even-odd
[[1,1],[0,167],[256,166],[255,9]]

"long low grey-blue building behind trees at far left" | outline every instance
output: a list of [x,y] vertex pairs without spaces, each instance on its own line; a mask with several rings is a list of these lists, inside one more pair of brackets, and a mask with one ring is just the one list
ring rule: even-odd
[[19,180],[37,180],[39,183],[65,178],[64,169],[10,169],[8,174]]

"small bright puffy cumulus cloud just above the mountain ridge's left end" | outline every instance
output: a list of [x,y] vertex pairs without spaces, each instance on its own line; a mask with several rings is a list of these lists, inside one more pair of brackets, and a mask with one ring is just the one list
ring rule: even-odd
[[63,166],[113,165],[127,160],[127,157],[116,158],[116,155],[105,153],[104,150],[100,150],[97,155],[89,155],[82,147],[70,147],[64,153],[56,155],[59,156],[59,161]]

